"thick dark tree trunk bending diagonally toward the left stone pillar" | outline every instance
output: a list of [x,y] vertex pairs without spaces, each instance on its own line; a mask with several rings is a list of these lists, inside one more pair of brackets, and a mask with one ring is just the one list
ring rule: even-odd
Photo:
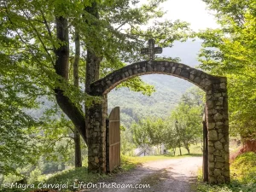
[[[55,73],[61,76],[60,81],[68,80],[68,66],[69,66],[69,44],[68,44],[68,23],[67,19],[62,16],[55,18],[56,37],[65,44],[61,44],[58,49],[55,49]],[[55,87],[56,102],[67,117],[72,120],[73,125],[77,128],[86,143],[85,132],[85,117],[81,108],[78,108],[71,100],[64,95],[64,90],[60,87]]]

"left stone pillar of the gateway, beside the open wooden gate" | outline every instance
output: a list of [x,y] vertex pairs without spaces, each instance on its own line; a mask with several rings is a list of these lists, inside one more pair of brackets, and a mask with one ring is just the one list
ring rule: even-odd
[[101,103],[95,103],[86,110],[88,171],[107,172],[106,169],[106,118],[108,98],[102,96]]

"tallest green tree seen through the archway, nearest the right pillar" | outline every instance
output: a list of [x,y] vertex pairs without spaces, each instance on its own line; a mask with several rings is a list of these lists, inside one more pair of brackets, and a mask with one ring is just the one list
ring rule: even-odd
[[181,102],[167,119],[164,143],[168,148],[186,148],[198,143],[202,137],[201,119],[203,114],[202,91],[194,88],[181,97]]

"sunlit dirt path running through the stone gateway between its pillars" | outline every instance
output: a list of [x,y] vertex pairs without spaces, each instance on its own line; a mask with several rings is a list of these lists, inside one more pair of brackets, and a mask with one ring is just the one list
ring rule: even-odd
[[[157,160],[143,164],[131,172],[120,173],[108,182],[98,183],[101,189],[87,189],[85,191],[101,192],[192,192],[195,188],[196,172],[202,166],[201,157],[186,157],[172,160]],[[133,189],[117,188],[124,187],[125,184],[132,184]],[[136,184],[138,184],[136,186]],[[142,184],[149,184],[150,188],[135,189],[142,187]],[[119,185],[119,186],[118,186]],[[103,186],[103,188],[102,188]]]

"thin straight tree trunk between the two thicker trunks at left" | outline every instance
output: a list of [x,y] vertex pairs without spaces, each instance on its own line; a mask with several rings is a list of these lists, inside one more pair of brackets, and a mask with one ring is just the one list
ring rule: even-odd
[[[75,27],[75,59],[73,62],[73,85],[79,89],[79,60],[80,60],[80,39],[79,29]],[[75,167],[82,166],[81,141],[79,129],[74,129],[74,146],[75,146]]]

